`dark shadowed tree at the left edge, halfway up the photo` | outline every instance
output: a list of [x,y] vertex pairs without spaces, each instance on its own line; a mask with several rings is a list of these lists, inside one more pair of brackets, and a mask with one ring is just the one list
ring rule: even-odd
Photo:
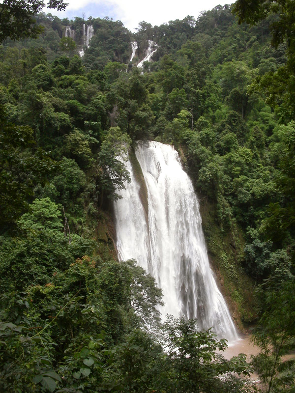
[[28,210],[33,187],[44,184],[55,162],[36,148],[33,130],[8,122],[0,108],[0,221],[2,229]]

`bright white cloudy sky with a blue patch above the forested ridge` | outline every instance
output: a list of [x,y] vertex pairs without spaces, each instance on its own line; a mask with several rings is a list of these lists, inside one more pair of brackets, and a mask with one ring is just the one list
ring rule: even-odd
[[[126,28],[134,31],[139,22],[145,21],[152,26],[159,26],[187,15],[198,18],[201,11],[208,11],[216,5],[229,4],[223,0],[66,0],[69,5],[64,12],[50,11],[59,18],[72,19],[75,16],[85,18],[104,18],[108,16],[120,20]],[[48,10],[44,10],[48,12]]]

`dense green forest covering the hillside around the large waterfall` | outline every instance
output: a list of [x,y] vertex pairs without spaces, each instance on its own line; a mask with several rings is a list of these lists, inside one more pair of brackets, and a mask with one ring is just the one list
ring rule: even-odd
[[[17,31],[6,3],[0,390],[295,392],[294,2],[238,0],[136,33],[38,7],[16,9]],[[154,279],[117,260],[119,158],[147,139],[174,144],[193,180],[222,292],[261,348],[251,365],[196,320],[161,323]]]

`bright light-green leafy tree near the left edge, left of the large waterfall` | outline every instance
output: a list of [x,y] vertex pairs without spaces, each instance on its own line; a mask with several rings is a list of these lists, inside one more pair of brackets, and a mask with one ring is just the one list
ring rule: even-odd
[[[75,258],[88,253],[90,241],[63,230],[60,205],[49,197],[35,199],[30,212],[17,222],[18,237],[3,240],[0,252],[1,287],[25,290],[28,285],[44,285],[54,272],[62,271]],[[4,290],[5,290],[4,289]]]

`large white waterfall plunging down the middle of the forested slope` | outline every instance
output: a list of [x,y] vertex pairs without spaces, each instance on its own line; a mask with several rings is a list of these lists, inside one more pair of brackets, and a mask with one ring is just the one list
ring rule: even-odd
[[229,310],[209,266],[193,185],[176,150],[155,141],[139,142],[136,158],[144,180],[130,162],[131,183],[115,203],[120,260],[134,258],[162,288],[162,314],[197,318],[200,330],[237,338]]

